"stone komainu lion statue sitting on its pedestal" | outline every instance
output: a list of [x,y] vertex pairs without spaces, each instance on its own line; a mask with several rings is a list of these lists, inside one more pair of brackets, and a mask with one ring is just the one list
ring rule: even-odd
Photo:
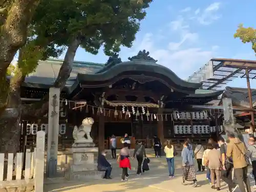
[[[75,143],[93,142],[93,139],[90,136],[93,123],[93,118],[87,117],[82,120],[82,124],[79,127],[74,127],[73,138],[75,140]],[[87,138],[84,137],[85,135]]]

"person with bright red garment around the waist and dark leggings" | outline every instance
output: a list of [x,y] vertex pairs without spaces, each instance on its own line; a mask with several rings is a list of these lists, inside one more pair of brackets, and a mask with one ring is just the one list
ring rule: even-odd
[[[129,159],[129,144],[123,143],[124,147],[121,149],[117,162],[119,162],[119,167],[122,168],[122,180],[121,181],[127,181],[127,178],[129,178],[128,175],[128,168],[131,169],[131,162]],[[125,178],[126,177],[126,178]]]

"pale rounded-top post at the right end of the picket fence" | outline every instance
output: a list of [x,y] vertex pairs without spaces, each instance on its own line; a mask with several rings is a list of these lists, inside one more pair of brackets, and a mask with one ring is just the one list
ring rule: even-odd
[[45,166],[45,132],[39,131],[36,135],[35,157],[35,192],[44,191],[44,166]]

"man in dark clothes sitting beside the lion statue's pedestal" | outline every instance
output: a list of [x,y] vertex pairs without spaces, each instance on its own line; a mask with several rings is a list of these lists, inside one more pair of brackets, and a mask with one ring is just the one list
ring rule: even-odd
[[112,166],[109,163],[108,160],[106,160],[106,154],[105,152],[101,152],[98,156],[98,170],[99,171],[105,171],[105,176],[103,177],[104,179],[111,179],[111,171],[112,171]]

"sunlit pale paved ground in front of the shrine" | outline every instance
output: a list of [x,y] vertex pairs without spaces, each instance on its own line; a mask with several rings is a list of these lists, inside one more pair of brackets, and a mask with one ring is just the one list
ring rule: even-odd
[[[198,174],[198,187],[193,188],[190,184],[183,186],[181,184],[181,164],[179,158],[177,158],[176,170],[174,179],[167,177],[167,167],[165,163],[165,158],[156,159],[151,158],[152,164],[150,166],[151,170],[138,177],[136,175],[135,167],[130,171],[129,181],[121,182],[120,181],[120,168],[117,168],[114,165],[113,161],[113,174],[112,180],[95,180],[93,182],[82,183],[82,182],[63,182],[56,184],[45,184],[45,192],[80,192],[80,191],[94,191],[94,192],[160,192],[160,191],[169,191],[169,192],[180,192],[181,190],[189,192],[205,192],[210,189],[210,185],[205,181],[205,173]],[[135,166],[136,161],[132,162]],[[251,182],[253,186],[254,182]],[[226,191],[227,186],[225,183],[221,183],[221,191]],[[214,190],[212,190],[214,191]],[[237,189],[236,192],[240,190]],[[252,189],[254,191],[254,189]]]

